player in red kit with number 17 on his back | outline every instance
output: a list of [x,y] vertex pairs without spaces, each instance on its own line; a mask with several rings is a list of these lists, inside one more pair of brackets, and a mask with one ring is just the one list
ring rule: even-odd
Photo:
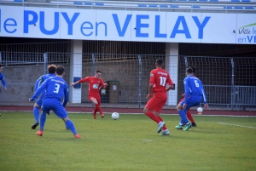
[[[156,60],[155,63],[156,69],[150,72],[150,81],[148,88],[148,100],[147,105],[144,108],[144,113],[155,123],[158,124],[157,133],[160,133],[163,129],[161,135],[169,135],[170,132],[166,128],[166,123],[160,117],[160,111],[163,106],[166,104],[167,94],[166,91],[169,91],[173,87],[172,79],[167,71],[162,69],[164,66],[164,60]],[[169,84],[169,87],[166,88],[166,84]],[[154,92],[154,95],[152,94]]]

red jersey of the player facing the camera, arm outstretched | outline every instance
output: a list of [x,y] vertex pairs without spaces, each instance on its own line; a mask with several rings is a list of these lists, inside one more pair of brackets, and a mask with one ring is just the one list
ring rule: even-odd
[[79,80],[79,83],[89,83],[89,96],[100,96],[99,89],[104,86],[102,78],[85,77]]

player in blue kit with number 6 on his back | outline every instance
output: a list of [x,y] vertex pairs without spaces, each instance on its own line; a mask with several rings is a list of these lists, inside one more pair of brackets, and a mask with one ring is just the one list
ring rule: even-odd
[[177,105],[177,112],[181,117],[181,121],[175,127],[177,129],[183,129],[183,123],[186,123],[186,127],[183,129],[184,131],[187,131],[192,127],[191,123],[189,123],[189,120],[186,117],[186,111],[189,110],[190,107],[199,105],[202,99],[204,100],[205,108],[207,109],[209,107],[207,104],[207,96],[201,80],[194,76],[192,68],[188,68],[186,74],[187,77],[183,81],[185,97],[184,100]]

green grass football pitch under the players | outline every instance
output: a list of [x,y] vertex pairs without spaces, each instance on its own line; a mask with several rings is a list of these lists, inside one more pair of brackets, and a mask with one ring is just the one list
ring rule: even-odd
[[195,116],[198,127],[186,132],[174,128],[178,116],[162,116],[171,135],[160,136],[144,115],[114,121],[108,114],[97,120],[69,114],[83,137],[78,140],[53,113],[43,137],[31,129],[32,112],[1,114],[1,171],[256,169],[256,117]]

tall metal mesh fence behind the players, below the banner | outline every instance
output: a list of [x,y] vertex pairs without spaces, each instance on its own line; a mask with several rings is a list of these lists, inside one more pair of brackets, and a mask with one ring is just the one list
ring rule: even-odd
[[[0,102],[20,103],[27,100],[33,92],[34,83],[46,71],[49,64],[61,65],[66,69],[64,79],[71,83],[71,53],[10,53],[1,52],[0,62],[8,83],[8,91],[0,91]],[[145,105],[148,94],[149,72],[154,69],[155,60],[166,60],[166,55],[138,54],[79,54],[82,63],[82,76],[92,76],[96,69],[102,70],[102,79],[119,81],[119,104]],[[256,58],[195,57],[178,56],[176,77],[177,97],[183,94],[183,78],[188,66],[195,66],[196,77],[205,85],[207,101],[211,106],[230,110],[256,108]],[[82,103],[90,103],[87,98],[88,84],[82,84]],[[19,97],[19,98],[17,98]],[[103,103],[107,102],[102,101]]]

